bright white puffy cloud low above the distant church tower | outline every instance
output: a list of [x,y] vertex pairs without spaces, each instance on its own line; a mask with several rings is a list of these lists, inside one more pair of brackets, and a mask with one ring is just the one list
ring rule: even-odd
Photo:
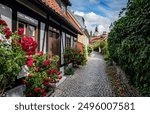
[[95,27],[98,26],[98,31],[102,33],[103,31],[109,32],[109,26],[111,24],[111,20],[107,17],[103,17],[95,14],[94,12],[84,13],[80,11],[74,12],[76,15],[82,16],[85,19],[85,24],[89,31],[95,30]]

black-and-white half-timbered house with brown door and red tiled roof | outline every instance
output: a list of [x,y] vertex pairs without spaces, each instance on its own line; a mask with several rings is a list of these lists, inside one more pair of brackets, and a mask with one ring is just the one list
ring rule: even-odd
[[12,31],[24,29],[24,35],[38,42],[37,51],[52,52],[60,57],[64,71],[64,50],[75,47],[81,31],[68,19],[69,0],[2,0],[0,17]]

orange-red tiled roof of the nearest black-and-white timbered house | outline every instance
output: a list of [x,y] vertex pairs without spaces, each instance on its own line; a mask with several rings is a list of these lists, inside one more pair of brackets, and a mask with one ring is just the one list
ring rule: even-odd
[[[45,3],[47,6],[49,6],[50,8],[52,8],[56,13],[61,15],[64,19],[66,19],[74,28],[76,28],[82,34],[80,27],[78,27],[78,25],[74,22],[69,12],[64,13],[61,7],[59,6],[59,4],[56,2],[56,0],[42,0],[42,2]],[[65,0],[65,2],[67,2],[67,5],[69,5],[70,3],[69,0]]]

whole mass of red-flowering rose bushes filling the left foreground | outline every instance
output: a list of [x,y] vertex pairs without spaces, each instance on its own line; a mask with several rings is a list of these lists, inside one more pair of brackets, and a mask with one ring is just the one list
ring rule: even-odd
[[25,96],[46,96],[62,76],[57,70],[58,56],[36,53],[37,42],[23,35],[19,29],[12,33],[4,20],[0,20],[0,96],[17,79],[22,66],[28,67],[28,76],[23,80]]

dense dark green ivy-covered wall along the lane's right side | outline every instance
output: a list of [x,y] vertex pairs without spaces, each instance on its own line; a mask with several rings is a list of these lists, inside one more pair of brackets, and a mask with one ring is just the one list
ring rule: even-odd
[[150,96],[150,0],[129,0],[124,12],[111,26],[110,57],[143,96]]

